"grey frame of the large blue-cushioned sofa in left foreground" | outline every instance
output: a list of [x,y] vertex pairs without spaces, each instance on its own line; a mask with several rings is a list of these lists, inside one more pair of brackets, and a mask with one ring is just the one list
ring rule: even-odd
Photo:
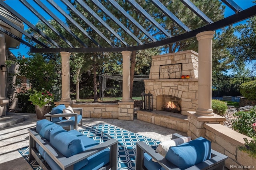
[[[106,148],[110,148],[110,162],[100,168],[100,170],[117,170],[117,155],[118,155],[118,141],[115,139],[110,139],[95,145],[94,147],[85,150],[76,155],[66,158],[62,155],[57,149],[55,149],[50,142],[48,142],[44,137],[42,137],[37,131],[36,128],[28,129],[29,131],[29,161],[36,160],[38,164],[42,167],[43,170],[50,170],[50,166],[44,161],[44,158],[40,156],[36,149],[36,143],[38,143],[49,156],[60,166],[62,170],[73,170],[74,164],[88,158],[89,156],[100,152]],[[57,153],[58,157],[54,156],[53,153]]]

